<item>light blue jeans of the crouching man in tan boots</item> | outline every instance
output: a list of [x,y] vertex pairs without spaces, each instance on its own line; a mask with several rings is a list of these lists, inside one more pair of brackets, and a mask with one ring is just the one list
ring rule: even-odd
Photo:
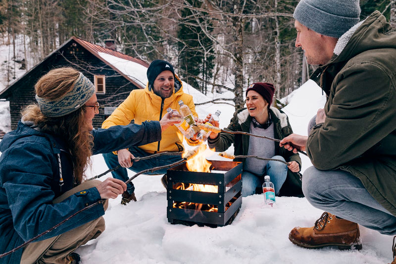
[[396,217],[382,207],[347,171],[309,167],[302,177],[302,192],[316,208],[379,231],[396,234]]

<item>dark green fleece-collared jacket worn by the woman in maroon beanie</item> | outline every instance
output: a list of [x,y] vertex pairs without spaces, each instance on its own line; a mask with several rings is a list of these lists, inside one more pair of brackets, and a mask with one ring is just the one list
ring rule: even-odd
[[[270,107],[272,121],[274,123],[274,138],[283,139],[293,133],[289,123],[288,116],[277,108]],[[250,132],[251,116],[246,108],[237,110],[231,118],[231,123],[226,129],[230,131]],[[220,133],[216,139],[208,139],[209,148],[215,148],[216,152],[226,151],[231,144],[234,143],[234,155],[247,155],[249,149],[249,136],[242,134]],[[301,168],[301,158],[298,154],[294,154],[285,148],[280,148],[278,142],[275,144],[275,155],[282,156],[286,161],[296,161]],[[244,161],[244,159],[235,159],[236,161]],[[288,175],[285,183],[282,185],[280,195],[283,196],[302,196],[301,179],[298,172],[292,172],[288,169]]]

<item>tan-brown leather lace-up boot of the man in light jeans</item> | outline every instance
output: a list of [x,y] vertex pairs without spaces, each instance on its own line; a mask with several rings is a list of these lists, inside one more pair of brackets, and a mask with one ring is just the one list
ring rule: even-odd
[[362,249],[357,223],[324,212],[313,227],[295,227],[289,234],[293,244],[303,248],[337,246],[339,249]]

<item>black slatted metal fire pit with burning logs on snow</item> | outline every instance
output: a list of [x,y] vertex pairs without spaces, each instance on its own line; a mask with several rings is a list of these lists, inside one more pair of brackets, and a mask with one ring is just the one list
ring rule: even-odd
[[190,171],[186,164],[167,170],[168,222],[217,227],[234,220],[242,205],[242,163],[209,162],[210,172]]

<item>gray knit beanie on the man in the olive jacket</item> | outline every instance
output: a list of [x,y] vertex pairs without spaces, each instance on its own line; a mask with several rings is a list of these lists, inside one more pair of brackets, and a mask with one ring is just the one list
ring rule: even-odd
[[340,38],[359,22],[359,0],[300,0],[293,17],[316,33]]

